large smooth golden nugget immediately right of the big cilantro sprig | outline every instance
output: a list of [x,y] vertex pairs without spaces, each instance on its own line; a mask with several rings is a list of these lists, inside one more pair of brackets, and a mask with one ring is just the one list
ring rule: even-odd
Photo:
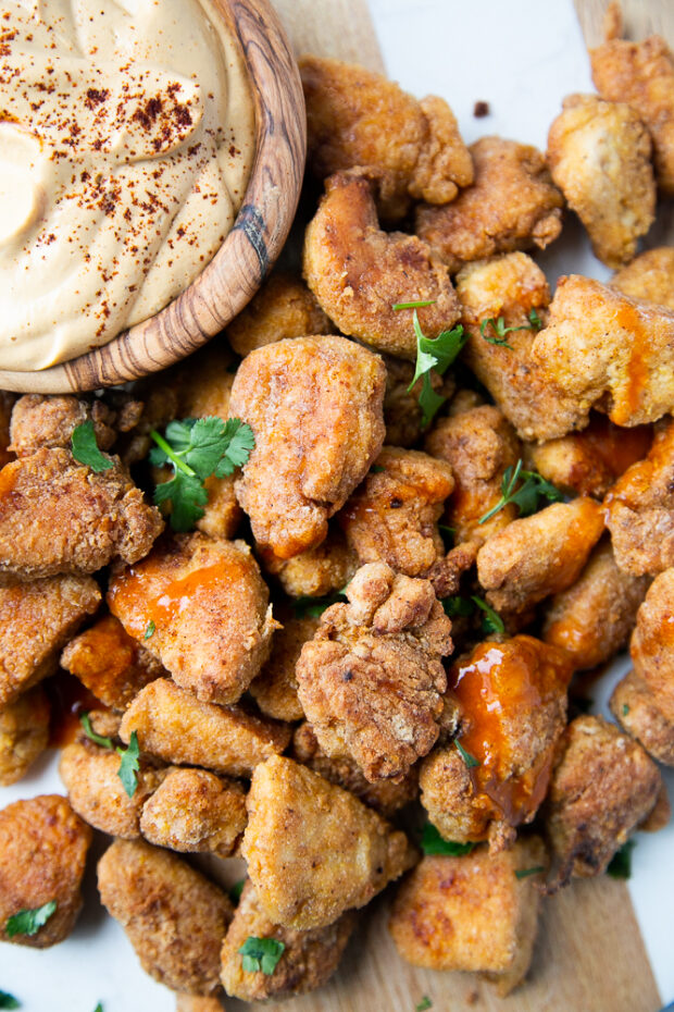
[[255,436],[239,503],[255,541],[279,558],[320,544],[327,521],[384,442],[382,359],[345,337],[296,337],[251,351],[229,410]]

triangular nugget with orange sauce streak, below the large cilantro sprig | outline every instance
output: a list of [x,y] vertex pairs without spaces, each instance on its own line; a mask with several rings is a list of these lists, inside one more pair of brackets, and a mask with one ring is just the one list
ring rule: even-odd
[[235,703],[266,661],[277,622],[244,541],[178,534],[117,568],[108,604],[126,632],[204,703]]

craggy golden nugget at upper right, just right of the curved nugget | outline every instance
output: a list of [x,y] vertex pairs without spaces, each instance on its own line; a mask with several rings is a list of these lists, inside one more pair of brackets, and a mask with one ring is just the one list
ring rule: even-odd
[[480,137],[469,150],[473,185],[446,207],[416,210],[416,234],[451,274],[496,254],[545,249],[562,230],[564,199],[540,151],[502,137]]

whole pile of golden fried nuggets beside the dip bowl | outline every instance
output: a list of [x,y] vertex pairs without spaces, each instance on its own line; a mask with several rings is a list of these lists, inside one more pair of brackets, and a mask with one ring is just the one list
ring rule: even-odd
[[[666,823],[674,249],[634,257],[657,188],[674,196],[674,58],[619,29],[547,158],[466,148],[441,99],[304,59],[324,185],[304,281],[275,274],[226,340],[132,393],[3,398],[2,782],[47,745],[59,665],[96,701],[93,737],[61,755],[67,799],[0,813],[3,939],[68,934],[93,827],[115,838],[102,902],[179,1009],[323,985],[355,911],[402,876],[400,955],[506,994],[542,897]],[[525,250],[565,207],[617,273],[551,298]],[[409,301],[429,343],[467,335],[425,427]],[[213,416],[254,449],[172,533],[132,472],[151,486],[151,430]],[[73,457],[84,421],[108,470]],[[521,515],[517,468],[558,501]],[[627,644],[616,723],[574,711],[574,674]],[[114,746],[134,736],[128,797]],[[242,856],[238,903],[185,854]]]

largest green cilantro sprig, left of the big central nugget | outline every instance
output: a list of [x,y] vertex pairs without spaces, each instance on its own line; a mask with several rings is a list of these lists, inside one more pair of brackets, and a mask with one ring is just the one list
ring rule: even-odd
[[255,437],[250,425],[238,418],[186,418],[166,425],[165,437],[154,429],[150,435],[157,446],[150,451],[155,467],[171,465],[173,478],[154,490],[154,503],[171,502],[174,531],[189,531],[203,516],[209,501],[203,488],[207,478],[224,478],[242,467]]

